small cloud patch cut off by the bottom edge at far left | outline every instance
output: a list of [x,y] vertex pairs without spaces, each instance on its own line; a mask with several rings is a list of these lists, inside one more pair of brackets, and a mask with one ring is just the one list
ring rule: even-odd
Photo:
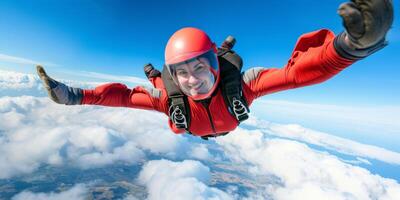
[[15,195],[12,200],[79,200],[87,199],[88,188],[84,184],[77,184],[69,190],[59,193],[33,193],[23,191]]

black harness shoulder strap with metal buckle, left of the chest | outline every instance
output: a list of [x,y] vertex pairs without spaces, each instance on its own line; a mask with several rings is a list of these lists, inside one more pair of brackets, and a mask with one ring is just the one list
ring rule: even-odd
[[165,89],[169,100],[169,117],[177,128],[189,130],[190,107],[186,95],[182,94],[173,82],[166,66],[164,65],[161,73]]

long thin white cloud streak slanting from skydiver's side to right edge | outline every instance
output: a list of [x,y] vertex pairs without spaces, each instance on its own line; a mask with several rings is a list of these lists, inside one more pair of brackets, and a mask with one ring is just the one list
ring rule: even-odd
[[348,155],[400,165],[400,153],[307,129],[297,124],[276,124],[257,120],[255,117],[245,123],[253,125],[269,135],[295,139]]

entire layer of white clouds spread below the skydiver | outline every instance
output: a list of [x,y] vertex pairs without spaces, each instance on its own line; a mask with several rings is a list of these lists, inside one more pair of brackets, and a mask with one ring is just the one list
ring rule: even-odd
[[[0,92],[19,88],[41,90],[34,77],[16,76],[20,78],[2,79],[0,85],[4,87],[0,87]],[[90,169],[116,163],[144,163],[137,179],[132,177],[132,181],[146,186],[149,199],[400,198],[400,184],[395,180],[372,174],[308,144],[355,156],[364,163],[369,163],[366,159],[380,159],[399,165],[396,152],[300,125],[255,118],[246,125],[251,128],[238,128],[225,137],[204,142],[173,134],[167,127],[167,117],[156,112],[63,106],[47,97],[3,96],[0,179],[29,174],[45,165]],[[213,185],[214,163],[219,161],[229,162],[232,169],[244,169],[247,174],[243,178],[258,187],[249,187],[239,194],[235,188],[222,190]],[[221,180],[224,179],[218,181]],[[76,184],[65,192],[23,191],[14,199],[80,199],[89,186]]]

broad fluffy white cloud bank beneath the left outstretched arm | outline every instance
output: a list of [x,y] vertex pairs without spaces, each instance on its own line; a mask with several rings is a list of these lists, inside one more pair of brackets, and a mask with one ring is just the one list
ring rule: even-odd
[[31,173],[43,164],[86,169],[116,162],[132,164],[145,157],[144,151],[168,157],[176,157],[181,150],[191,152],[186,139],[169,131],[166,120],[160,113],[143,110],[2,97],[0,178]]

